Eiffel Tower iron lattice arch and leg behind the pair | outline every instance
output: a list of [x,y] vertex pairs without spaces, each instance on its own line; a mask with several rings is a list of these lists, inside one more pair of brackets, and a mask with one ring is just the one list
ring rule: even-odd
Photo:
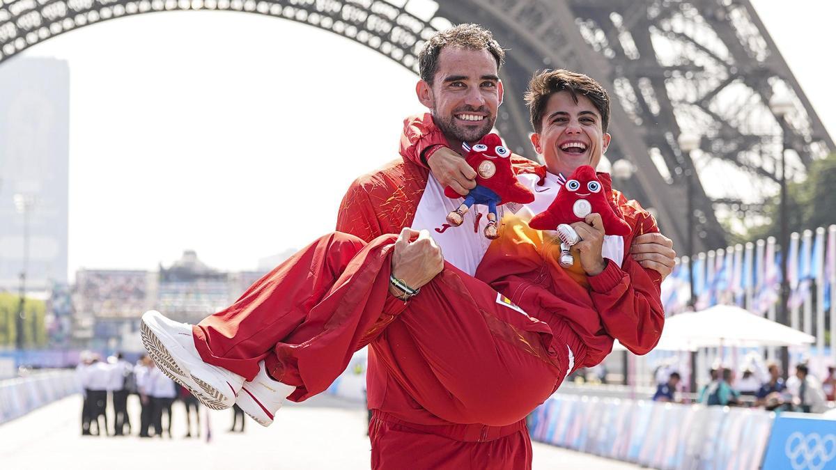
[[[757,220],[738,216],[777,192],[782,127],[767,106],[772,95],[795,105],[786,136],[794,178],[836,149],[747,0],[0,0],[0,63],[75,28],[170,10],[305,23],[415,72],[432,33],[482,23],[510,49],[497,127],[512,148],[532,155],[522,96],[533,71],[568,68],[598,79],[614,96],[607,157],[636,169],[617,185],[655,209],[679,246],[689,230],[685,170],[696,169],[696,251],[725,246],[718,221]],[[701,135],[690,155],[677,145],[683,132]]]

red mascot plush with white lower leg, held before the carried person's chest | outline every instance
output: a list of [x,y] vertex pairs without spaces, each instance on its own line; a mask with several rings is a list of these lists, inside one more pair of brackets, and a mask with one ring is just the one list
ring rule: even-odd
[[612,205],[607,201],[610,186],[609,180],[604,180],[607,186],[599,180],[592,166],[579,166],[569,175],[563,189],[558,192],[551,205],[528,222],[528,226],[538,230],[557,230],[560,238],[560,265],[572,266],[574,259],[569,254],[569,247],[580,241],[570,223],[583,222],[584,218],[593,212],[601,215],[604,222],[604,233],[607,235],[630,235],[630,225],[615,213]]

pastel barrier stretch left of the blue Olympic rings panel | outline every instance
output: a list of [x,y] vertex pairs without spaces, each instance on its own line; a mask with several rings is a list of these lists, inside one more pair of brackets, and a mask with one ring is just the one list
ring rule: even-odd
[[654,468],[757,469],[772,413],[555,395],[529,418],[535,441]]

